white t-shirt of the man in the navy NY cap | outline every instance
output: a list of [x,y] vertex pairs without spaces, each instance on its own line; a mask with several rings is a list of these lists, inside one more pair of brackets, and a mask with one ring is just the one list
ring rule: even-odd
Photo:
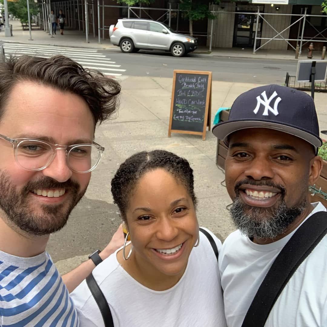
[[[326,211],[320,202],[312,205],[308,217]],[[227,237],[219,252],[219,270],[229,327],[242,325],[269,268],[296,230],[265,245],[253,243],[239,230]],[[327,235],[301,263],[273,306],[265,327],[280,326],[327,326]]]

